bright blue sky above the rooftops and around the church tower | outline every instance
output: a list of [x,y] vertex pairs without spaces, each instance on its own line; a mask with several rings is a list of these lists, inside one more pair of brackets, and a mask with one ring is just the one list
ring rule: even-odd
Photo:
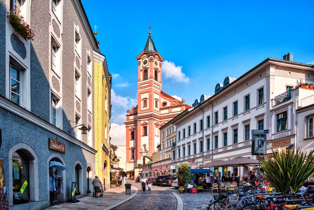
[[162,90],[188,105],[202,94],[213,95],[215,81],[240,77],[268,57],[282,59],[291,52],[294,61],[314,64],[314,1],[82,2],[115,76],[111,129],[120,134],[114,139],[125,135],[124,115],[137,104],[135,57],[149,26],[169,62],[162,67]]

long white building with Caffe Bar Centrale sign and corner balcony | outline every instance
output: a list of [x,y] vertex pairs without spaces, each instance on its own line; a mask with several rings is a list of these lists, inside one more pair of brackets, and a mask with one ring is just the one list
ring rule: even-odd
[[[172,162],[191,168],[215,160],[251,155],[252,129],[269,129],[267,149],[298,146],[295,107],[313,89],[296,88],[296,80],[313,83],[313,65],[268,58],[239,78],[226,77],[213,96],[202,95],[170,123],[176,126]],[[288,58],[287,58],[288,57]],[[300,99],[299,99],[300,98]],[[302,137],[303,138],[303,137]],[[211,168],[219,178],[247,174],[250,168]]]

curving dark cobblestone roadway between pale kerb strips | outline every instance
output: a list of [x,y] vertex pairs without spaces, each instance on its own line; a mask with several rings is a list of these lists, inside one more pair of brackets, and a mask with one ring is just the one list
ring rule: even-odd
[[176,210],[177,201],[175,196],[166,188],[152,186],[152,190],[142,191],[140,183],[128,181],[132,186],[135,186],[139,191],[138,194],[124,204],[113,208],[114,210]]

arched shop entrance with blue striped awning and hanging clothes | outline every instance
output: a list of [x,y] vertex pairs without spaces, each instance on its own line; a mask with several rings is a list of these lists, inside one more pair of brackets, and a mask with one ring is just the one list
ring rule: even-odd
[[[66,168],[62,161],[54,157],[49,161],[49,196],[50,203],[65,202],[63,173]],[[54,202],[55,201],[55,202]]]

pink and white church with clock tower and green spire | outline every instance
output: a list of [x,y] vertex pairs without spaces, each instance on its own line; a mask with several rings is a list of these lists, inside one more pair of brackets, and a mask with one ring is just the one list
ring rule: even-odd
[[[161,62],[151,34],[138,60],[138,105],[127,110],[126,145],[127,174],[136,177],[145,156],[152,157],[160,142],[160,127],[189,108],[189,105],[162,91]],[[130,179],[130,177],[128,177]]]

